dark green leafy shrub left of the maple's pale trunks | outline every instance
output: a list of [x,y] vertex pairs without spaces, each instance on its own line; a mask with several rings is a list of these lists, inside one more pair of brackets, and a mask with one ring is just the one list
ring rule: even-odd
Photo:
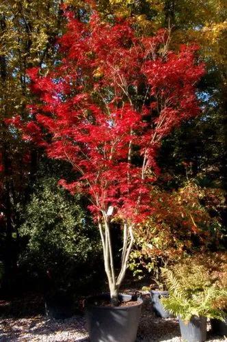
[[98,231],[84,206],[81,196],[71,196],[46,177],[25,210],[19,233],[27,239],[27,249],[21,263],[42,276],[48,273],[56,287],[78,281],[79,269],[83,276],[86,270],[92,275],[99,256]]

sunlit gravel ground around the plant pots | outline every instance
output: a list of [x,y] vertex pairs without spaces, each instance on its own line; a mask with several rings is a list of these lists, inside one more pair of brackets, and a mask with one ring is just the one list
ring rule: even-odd
[[[150,298],[145,295],[137,342],[181,342],[180,336],[178,321],[173,318],[160,319],[155,317],[151,310]],[[38,315],[30,318],[0,319],[0,341],[86,342],[89,339],[85,328],[85,319],[81,316],[77,315],[70,319],[55,320]],[[227,341],[227,339],[211,336],[210,332],[208,332],[207,341]]]

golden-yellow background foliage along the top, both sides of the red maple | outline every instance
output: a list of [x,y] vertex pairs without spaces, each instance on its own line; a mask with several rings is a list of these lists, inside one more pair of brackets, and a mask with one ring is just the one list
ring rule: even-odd
[[[88,9],[85,0],[63,2],[75,9]],[[59,15],[61,3],[61,0],[1,0],[0,15],[4,14],[5,28],[0,32],[0,55],[7,60],[8,80],[0,84],[0,91],[4,94],[3,103],[8,103],[9,113],[25,105],[26,68],[53,63],[53,42],[64,29],[64,19]],[[134,18],[138,34],[154,34],[160,27],[173,26],[172,48],[177,49],[181,43],[198,42],[206,63],[215,64],[224,79],[225,0],[96,0],[96,5],[103,19],[109,20],[114,14]],[[223,85],[225,82],[224,79]]]

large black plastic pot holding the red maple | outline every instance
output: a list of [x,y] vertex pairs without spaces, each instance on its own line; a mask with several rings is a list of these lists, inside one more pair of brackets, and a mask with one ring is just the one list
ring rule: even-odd
[[[119,295],[125,302],[133,299],[131,295]],[[96,300],[110,300],[109,294],[88,298],[85,315],[91,342],[134,342],[139,325],[143,300],[129,306],[97,306]]]

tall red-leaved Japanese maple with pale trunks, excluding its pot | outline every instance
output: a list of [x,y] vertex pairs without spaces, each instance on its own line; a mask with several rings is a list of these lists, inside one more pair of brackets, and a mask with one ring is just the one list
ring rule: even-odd
[[[75,181],[60,183],[90,198],[114,304],[133,231],[154,210],[151,186],[159,174],[155,157],[161,139],[199,112],[195,86],[204,66],[196,62],[196,48],[174,53],[168,43],[165,30],[139,37],[129,21],[104,23],[94,13],[81,23],[68,14],[68,31],[59,40],[64,58],[46,75],[29,70],[41,101],[30,108],[33,120],[25,137],[44,146],[49,157],[72,164]],[[113,219],[122,224],[118,274]]]

